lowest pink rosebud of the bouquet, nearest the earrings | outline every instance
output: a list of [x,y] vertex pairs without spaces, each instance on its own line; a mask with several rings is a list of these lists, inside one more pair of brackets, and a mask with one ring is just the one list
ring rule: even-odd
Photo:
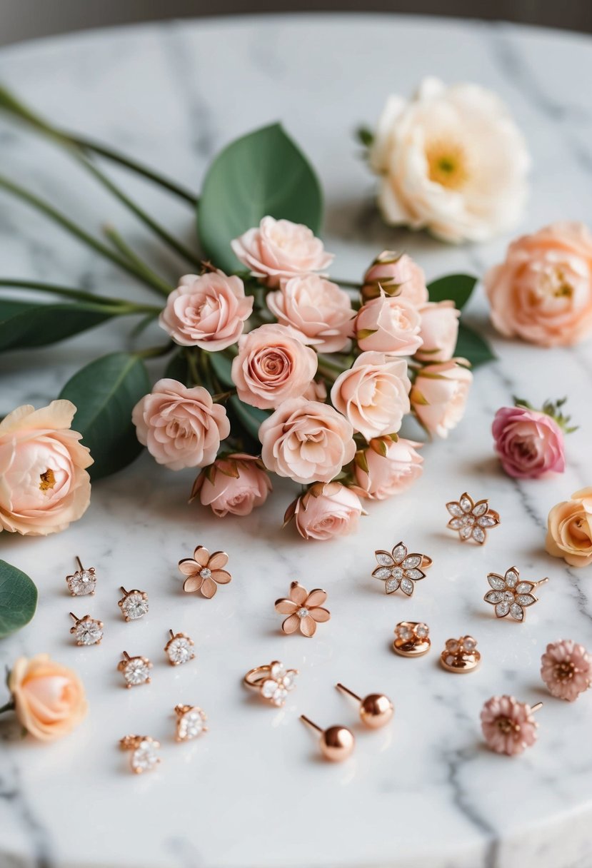
[[285,519],[293,517],[306,540],[328,540],[353,533],[363,511],[358,496],[345,485],[315,483],[291,504]]

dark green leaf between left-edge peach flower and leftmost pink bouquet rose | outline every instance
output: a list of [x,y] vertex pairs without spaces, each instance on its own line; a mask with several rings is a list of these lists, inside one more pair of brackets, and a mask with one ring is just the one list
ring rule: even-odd
[[95,459],[89,467],[93,479],[121,470],[140,454],[132,410],[148,391],[146,366],[127,352],[97,358],[63,387],[60,398],[76,404],[72,428]]

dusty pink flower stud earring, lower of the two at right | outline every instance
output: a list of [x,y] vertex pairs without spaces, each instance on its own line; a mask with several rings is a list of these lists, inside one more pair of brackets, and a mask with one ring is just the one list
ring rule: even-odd
[[513,696],[492,696],[481,712],[481,728],[487,745],[496,753],[514,756],[536,741],[538,724],[532,716],[542,702],[530,707]]

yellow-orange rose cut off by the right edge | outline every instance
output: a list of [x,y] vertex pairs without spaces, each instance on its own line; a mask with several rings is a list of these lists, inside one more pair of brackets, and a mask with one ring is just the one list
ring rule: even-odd
[[549,512],[545,548],[571,567],[592,563],[592,487],[576,491]]

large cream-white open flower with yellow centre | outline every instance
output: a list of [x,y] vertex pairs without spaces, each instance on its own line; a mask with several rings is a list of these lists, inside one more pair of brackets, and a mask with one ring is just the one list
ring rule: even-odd
[[370,151],[378,206],[392,226],[446,241],[482,241],[513,227],[530,156],[496,94],[426,78],[414,99],[391,96]]

